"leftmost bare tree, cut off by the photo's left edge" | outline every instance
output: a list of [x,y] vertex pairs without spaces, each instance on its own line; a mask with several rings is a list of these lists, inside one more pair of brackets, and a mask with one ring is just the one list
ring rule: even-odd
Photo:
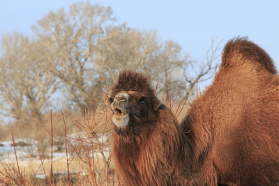
[[43,52],[37,42],[21,33],[1,39],[1,114],[16,120],[42,120],[47,101],[57,88],[56,79],[45,72]]

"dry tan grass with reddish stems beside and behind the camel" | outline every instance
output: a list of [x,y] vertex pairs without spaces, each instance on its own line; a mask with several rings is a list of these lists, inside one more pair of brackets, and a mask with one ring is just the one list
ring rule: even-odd
[[[187,111],[186,100],[166,104],[181,121]],[[97,109],[93,101],[84,116],[67,111],[48,114],[43,124],[31,124],[33,130],[24,126],[8,129],[15,131],[15,137],[41,141],[37,146],[40,154],[23,162],[0,162],[0,185],[121,185],[110,154],[112,112],[107,102],[101,105]],[[63,157],[54,160],[57,146],[61,146]]]

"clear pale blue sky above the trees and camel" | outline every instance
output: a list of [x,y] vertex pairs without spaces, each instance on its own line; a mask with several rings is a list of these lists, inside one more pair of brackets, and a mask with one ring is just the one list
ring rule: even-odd
[[[29,34],[30,26],[50,10],[68,8],[80,1],[1,1],[0,34],[13,30]],[[279,1],[97,0],[91,3],[111,6],[119,22],[127,22],[130,27],[154,29],[164,40],[175,40],[193,59],[205,59],[211,38],[223,39],[225,45],[230,38],[248,36],[279,67]]]

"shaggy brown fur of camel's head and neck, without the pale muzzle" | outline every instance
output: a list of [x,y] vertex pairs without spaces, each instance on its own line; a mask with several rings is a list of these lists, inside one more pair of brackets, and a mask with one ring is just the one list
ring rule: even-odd
[[[113,131],[112,153],[124,183],[185,185],[187,170],[193,165],[188,162],[194,162],[190,156],[194,145],[187,142],[172,111],[158,101],[149,79],[142,74],[121,72],[112,87],[112,104],[119,93],[130,95],[130,123],[128,127],[114,126]],[[139,101],[142,98],[146,107]],[[134,116],[134,110],[140,110],[140,116]]]

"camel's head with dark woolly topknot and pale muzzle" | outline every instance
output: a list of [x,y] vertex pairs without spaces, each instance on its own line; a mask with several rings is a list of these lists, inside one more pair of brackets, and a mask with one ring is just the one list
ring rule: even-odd
[[122,130],[148,125],[161,105],[149,79],[144,75],[125,70],[112,86],[110,93],[112,121]]

